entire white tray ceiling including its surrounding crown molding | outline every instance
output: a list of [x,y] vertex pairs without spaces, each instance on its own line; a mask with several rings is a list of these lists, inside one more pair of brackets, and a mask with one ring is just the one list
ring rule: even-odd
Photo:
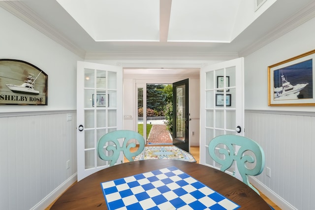
[[230,60],[315,17],[314,0],[0,0],[0,6],[85,60]]

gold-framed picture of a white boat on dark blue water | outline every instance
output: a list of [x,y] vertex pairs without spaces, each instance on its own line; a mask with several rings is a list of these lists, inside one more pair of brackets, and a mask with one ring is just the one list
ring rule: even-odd
[[268,66],[268,106],[314,106],[315,50]]

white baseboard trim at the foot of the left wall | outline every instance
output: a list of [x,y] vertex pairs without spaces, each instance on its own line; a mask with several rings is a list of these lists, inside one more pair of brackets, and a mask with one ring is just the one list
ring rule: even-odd
[[43,200],[32,207],[31,210],[44,210],[51,203],[53,203],[69,186],[77,181],[77,173],[72,175],[69,179],[65,180],[61,185],[59,185],[55,190],[49,193]]

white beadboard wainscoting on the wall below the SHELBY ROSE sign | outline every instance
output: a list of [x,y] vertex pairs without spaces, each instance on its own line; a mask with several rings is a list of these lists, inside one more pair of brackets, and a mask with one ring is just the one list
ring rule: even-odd
[[32,209],[77,172],[75,111],[0,113],[0,135],[1,210]]

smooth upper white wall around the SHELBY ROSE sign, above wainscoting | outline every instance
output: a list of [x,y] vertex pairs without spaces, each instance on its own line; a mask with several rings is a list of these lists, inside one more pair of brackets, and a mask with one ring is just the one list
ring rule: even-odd
[[48,106],[1,106],[4,111],[76,109],[76,65],[82,60],[0,7],[0,59],[24,60],[48,75]]

